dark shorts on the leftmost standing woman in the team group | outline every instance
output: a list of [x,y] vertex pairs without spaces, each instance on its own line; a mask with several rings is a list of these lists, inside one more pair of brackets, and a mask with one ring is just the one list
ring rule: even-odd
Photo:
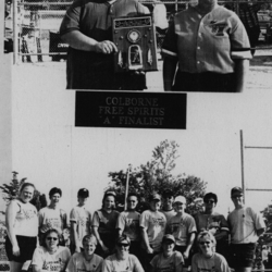
[[14,256],[12,254],[12,244],[9,236],[5,237],[5,252],[9,261],[25,262],[33,259],[33,254],[37,247],[37,237],[20,236],[16,235],[20,256]]

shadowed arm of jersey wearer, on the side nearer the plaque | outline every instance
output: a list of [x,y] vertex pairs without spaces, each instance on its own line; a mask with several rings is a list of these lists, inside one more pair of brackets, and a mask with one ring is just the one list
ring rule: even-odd
[[172,90],[177,59],[164,54],[163,58],[163,86],[164,90]]

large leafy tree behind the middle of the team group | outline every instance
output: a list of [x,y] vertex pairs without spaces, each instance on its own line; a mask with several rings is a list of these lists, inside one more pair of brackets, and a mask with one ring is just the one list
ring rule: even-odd
[[[187,212],[194,214],[202,209],[201,198],[205,195],[207,183],[199,177],[185,174],[173,175],[175,160],[178,158],[178,145],[172,140],[163,140],[154,147],[152,158],[129,171],[129,191],[135,191],[140,197],[139,211],[148,209],[149,196],[157,191],[162,194],[165,189],[174,191],[175,196],[183,195],[187,199]],[[107,189],[116,193],[116,203],[120,210],[124,207],[125,185],[127,172],[110,172],[111,183]]]

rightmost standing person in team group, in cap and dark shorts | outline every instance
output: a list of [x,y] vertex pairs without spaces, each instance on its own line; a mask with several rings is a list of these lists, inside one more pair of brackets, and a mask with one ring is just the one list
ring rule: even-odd
[[231,268],[236,272],[250,272],[254,264],[256,243],[264,232],[265,224],[259,212],[246,207],[243,189],[234,187],[231,197],[235,209],[228,214],[231,228]]

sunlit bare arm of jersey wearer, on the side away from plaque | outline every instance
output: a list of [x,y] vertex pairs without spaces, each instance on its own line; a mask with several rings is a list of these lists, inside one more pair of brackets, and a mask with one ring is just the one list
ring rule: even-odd
[[246,81],[249,71],[249,60],[236,59],[235,62],[235,86],[236,92],[242,92],[246,88]]

